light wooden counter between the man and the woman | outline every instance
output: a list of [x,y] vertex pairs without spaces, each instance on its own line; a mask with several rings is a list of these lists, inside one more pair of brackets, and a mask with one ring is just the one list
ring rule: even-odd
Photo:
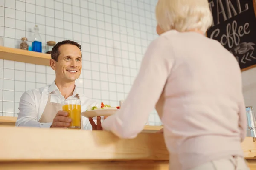
[[[168,170],[163,134],[119,139],[105,131],[0,127],[0,169]],[[256,170],[256,142],[242,143]]]

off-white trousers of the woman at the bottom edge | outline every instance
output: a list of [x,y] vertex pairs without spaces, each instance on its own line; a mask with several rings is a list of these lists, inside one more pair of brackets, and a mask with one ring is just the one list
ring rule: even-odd
[[250,170],[242,157],[230,156],[202,164],[191,170]]

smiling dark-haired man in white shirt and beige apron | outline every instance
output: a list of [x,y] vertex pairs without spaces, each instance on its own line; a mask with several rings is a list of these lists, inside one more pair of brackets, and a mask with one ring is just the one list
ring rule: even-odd
[[[90,105],[98,105],[79,93],[75,85],[82,71],[81,45],[70,40],[58,42],[52,48],[50,66],[55,71],[55,81],[52,85],[26,91],[21,96],[16,126],[67,128],[71,120],[62,111],[61,102],[78,98],[81,111],[86,111]],[[92,129],[87,118],[83,117],[82,123],[83,129]]]

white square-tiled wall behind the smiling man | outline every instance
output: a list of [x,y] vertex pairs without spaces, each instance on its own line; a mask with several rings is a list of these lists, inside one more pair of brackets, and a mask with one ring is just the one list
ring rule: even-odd
[[[3,45],[19,48],[35,24],[47,41],[75,40],[82,46],[83,72],[76,84],[99,102],[118,105],[128,94],[155,33],[157,0],[0,0]],[[31,40],[31,39],[30,39]],[[0,116],[17,116],[24,91],[49,85],[51,68],[0,60]],[[160,125],[155,112],[150,125]]]

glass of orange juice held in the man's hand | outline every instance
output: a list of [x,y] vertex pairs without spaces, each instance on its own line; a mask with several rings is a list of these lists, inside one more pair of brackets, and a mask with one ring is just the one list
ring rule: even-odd
[[72,119],[70,129],[81,129],[81,100],[68,99],[62,102],[62,110]]

